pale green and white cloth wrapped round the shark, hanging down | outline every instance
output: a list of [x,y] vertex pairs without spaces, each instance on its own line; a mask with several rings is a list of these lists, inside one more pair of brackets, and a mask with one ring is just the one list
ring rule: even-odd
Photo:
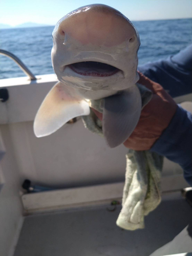
[[[137,83],[142,107],[152,98],[152,92]],[[102,113],[103,100],[92,100],[92,107]],[[91,110],[83,116],[84,126],[91,132],[103,136],[102,123]],[[161,202],[161,171],[163,157],[150,151],[129,150],[126,154],[125,184],[122,209],[116,224],[127,230],[144,228],[144,216],[153,211]]]

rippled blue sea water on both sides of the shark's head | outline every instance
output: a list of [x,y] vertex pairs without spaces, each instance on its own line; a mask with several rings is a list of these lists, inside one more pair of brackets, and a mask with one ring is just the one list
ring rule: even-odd
[[[133,22],[141,46],[139,64],[174,55],[192,42],[192,19]],[[51,64],[54,27],[0,30],[0,48],[19,57],[34,75],[54,73]],[[0,55],[0,79],[25,76],[16,63]]]

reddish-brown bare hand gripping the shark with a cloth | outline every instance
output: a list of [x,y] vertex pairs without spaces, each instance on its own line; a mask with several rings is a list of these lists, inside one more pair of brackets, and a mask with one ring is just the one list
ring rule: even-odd
[[[177,104],[159,83],[152,81],[141,73],[139,73],[139,76],[138,83],[150,89],[153,92],[153,97],[142,109],[135,130],[123,144],[133,150],[142,151],[149,150],[161,136],[172,120]],[[94,109],[93,111],[102,120],[102,114]]]

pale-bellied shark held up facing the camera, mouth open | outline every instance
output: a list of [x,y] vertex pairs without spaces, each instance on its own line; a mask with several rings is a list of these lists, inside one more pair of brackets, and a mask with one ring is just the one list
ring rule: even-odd
[[70,119],[90,115],[102,99],[102,131],[111,148],[134,131],[142,108],[137,87],[140,39],[118,10],[94,4],[64,17],[53,30],[51,59],[58,82],[34,120],[36,137],[56,132]]

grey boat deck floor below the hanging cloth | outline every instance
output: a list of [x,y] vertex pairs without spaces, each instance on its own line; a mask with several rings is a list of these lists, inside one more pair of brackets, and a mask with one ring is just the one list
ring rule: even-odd
[[25,217],[14,256],[148,256],[189,224],[192,211],[180,192],[161,204],[136,231],[116,226],[121,209],[107,205]]

